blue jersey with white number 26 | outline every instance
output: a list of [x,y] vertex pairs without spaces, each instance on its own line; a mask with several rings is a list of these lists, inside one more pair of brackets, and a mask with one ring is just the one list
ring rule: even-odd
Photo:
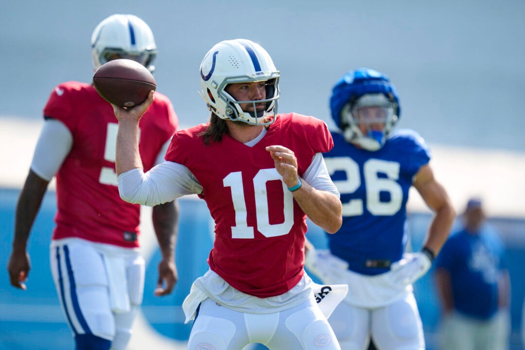
[[389,271],[407,242],[406,202],[414,175],[430,151],[412,130],[394,132],[375,152],[359,149],[332,132],[334,147],[324,160],[341,193],[343,225],[328,236],[335,256],[367,275]]

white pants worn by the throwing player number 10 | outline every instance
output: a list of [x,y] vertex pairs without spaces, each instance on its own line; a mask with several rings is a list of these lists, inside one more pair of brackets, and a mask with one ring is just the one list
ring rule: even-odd
[[199,307],[188,350],[241,350],[261,343],[270,350],[340,350],[326,317],[308,300],[267,314],[234,311],[211,299]]

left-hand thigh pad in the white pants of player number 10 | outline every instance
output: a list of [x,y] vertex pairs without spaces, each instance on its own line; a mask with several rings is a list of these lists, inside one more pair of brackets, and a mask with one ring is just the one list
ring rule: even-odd
[[226,350],[235,334],[235,324],[218,317],[199,315],[188,340],[188,349]]

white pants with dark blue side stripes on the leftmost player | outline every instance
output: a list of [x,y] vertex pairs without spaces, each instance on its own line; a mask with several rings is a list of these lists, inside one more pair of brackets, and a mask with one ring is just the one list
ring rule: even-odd
[[73,333],[92,334],[124,349],[142,303],[144,259],[138,249],[78,238],[51,241],[51,273]]

